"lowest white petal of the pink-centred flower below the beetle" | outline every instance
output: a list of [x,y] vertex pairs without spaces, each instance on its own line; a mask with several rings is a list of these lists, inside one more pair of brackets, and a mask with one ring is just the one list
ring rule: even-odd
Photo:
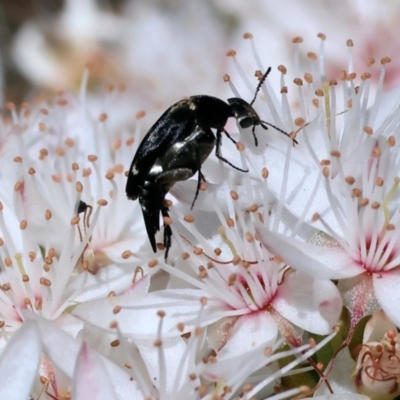
[[278,335],[275,321],[267,311],[242,315],[232,329],[226,345],[218,357],[235,357],[264,345],[271,346]]

